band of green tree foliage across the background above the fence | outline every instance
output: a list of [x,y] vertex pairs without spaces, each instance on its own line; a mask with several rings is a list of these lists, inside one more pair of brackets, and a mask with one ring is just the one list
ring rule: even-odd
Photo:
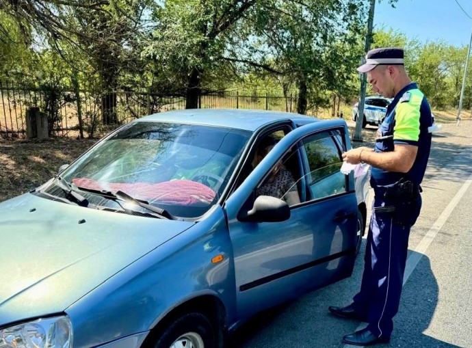
[[[317,113],[333,99],[358,96],[367,6],[365,0],[3,1],[0,79],[49,91],[44,109],[56,123],[60,105],[72,98],[60,91],[86,90],[103,109],[84,111],[89,133],[119,107],[110,91],[121,86],[158,94],[136,94],[151,110],[163,96],[182,96],[196,107],[201,94],[230,89],[296,95],[300,112]],[[422,43],[385,27],[373,35],[372,48],[380,46],[404,47],[410,77],[433,107],[458,105],[467,47]],[[465,107],[472,103],[471,72]],[[113,113],[109,121],[118,122]]]

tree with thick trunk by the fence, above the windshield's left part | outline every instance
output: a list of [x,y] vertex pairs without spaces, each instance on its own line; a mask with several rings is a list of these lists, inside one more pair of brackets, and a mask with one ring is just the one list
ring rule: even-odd
[[[87,0],[84,2],[92,2]],[[103,90],[101,109],[103,122],[114,124],[116,119],[116,91],[123,75],[140,75],[144,62],[140,59],[142,38],[146,36],[144,12],[152,1],[115,0],[90,12],[88,8],[74,8],[77,20],[77,44],[86,49],[88,63],[99,77]]]

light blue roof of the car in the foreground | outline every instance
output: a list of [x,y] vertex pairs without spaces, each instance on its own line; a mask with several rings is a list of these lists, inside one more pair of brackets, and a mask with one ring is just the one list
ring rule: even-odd
[[135,122],[185,122],[187,124],[205,124],[222,126],[244,131],[255,131],[265,124],[278,120],[291,120],[294,123],[319,121],[311,116],[283,111],[249,110],[249,109],[183,109],[154,113],[139,118]]

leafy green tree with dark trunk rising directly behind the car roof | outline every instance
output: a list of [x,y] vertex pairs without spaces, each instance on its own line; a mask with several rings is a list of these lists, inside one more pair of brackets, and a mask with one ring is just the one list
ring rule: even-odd
[[144,55],[166,70],[174,90],[182,91],[187,109],[209,90],[207,76],[232,66],[223,59],[233,30],[256,0],[167,0],[153,13],[155,30]]

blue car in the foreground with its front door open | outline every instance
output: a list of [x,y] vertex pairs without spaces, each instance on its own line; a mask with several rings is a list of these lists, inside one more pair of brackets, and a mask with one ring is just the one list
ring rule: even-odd
[[[348,148],[345,121],[294,113],[121,126],[0,203],[0,348],[223,347],[256,312],[349,277],[367,176],[340,172]],[[276,168],[293,181],[259,194]]]

